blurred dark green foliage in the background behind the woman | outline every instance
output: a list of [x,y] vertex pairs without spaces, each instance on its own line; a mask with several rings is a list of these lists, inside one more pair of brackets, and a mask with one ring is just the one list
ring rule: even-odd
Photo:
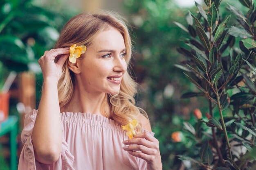
[[[53,47],[65,22],[85,11],[65,2],[0,1],[0,78],[6,75],[2,73],[11,70],[35,72],[37,104],[43,81],[38,59],[45,50]],[[220,7],[223,15],[229,14],[225,10],[227,2],[242,11],[246,10],[238,0],[223,0]],[[205,113],[208,105],[204,99],[180,98],[184,92],[195,91],[196,87],[182,70],[174,66],[184,60],[176,48],[185,47],[184,40],[188,36],[174,22],[187,26],[188,10],[197,13],[197,9],[195,5],[180,7],[175,0],[124,0],[120,4],[119,13],[130,23],[134,41],[132,74],[139,83],[138,105],[146,109],[155,137],[159,139],[163,169],[186,169],[189,161],[182,162],[176,155],[193,153],[192,142],[188,138],[175,142],[171,134],[182,131],[184,121],[195,124],[193,110],[200,108]],[[231,16],[230,22],[235,22],[234,16]],[[17,101],[11,100],[10,114],[18,115],[16,104]],[[2,159],[0,167],[8,169]]]

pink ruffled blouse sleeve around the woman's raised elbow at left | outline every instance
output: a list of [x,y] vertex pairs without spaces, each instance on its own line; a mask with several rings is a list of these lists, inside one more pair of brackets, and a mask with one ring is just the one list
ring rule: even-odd
[[25,115],[24,129],[21,133],[22,144],[18,170],[74,170],[72,167],[74,156],[70,153],[67,142],[62,139],[61,156],[52,164],[43,164],[35,159],[31,134],[36,120],[37,110]]

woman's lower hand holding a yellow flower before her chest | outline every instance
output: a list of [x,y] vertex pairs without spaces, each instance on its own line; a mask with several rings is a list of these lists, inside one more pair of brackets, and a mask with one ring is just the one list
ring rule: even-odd
[[130,145],[123,147],[130,155],[144,159],[147,162],[148,170],[162,170],[159,142],[148,132],[138,133],[134,138],[123,143]]

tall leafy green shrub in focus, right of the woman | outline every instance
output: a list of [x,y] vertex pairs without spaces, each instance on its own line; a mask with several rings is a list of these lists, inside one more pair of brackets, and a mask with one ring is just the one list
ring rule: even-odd
[[208,120],[184,124],[198,153],[179,156],[193,168],[255,168],[256,9],[252,0],[239,1],[247,7],[246,15],[228,4],[233,14],[223,16],[222,0],[204,0],[203,7],[196,3],[198,15],[188,14],[188,28],[178,23],[190,36],[188,48],[178,48],[186,60],[176,66],[200,90],[182,98],[203,95],[209,105]]

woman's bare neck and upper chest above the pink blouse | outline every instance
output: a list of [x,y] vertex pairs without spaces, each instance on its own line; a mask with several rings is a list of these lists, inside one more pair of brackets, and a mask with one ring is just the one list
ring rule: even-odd
[[[106,95],[103,92],[88,92],[83,86],[74,83],[74,92],[71,100],[65,107],[61,108],[61,112],[92,113],[110,118],[110,107],[105,100]],[[105,110],[107,111],[107,115],[103,113],[106,112]]]

